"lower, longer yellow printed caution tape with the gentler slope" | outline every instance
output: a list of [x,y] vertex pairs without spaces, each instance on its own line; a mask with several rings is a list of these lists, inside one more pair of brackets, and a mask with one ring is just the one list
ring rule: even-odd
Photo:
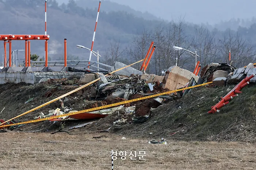
[[170,94],[170,93],[174,93],[174,92],[179,92],[179,91],[190,89],[190,88],[201,87],[201,86],[204,86],[204,85],[207,85],[207,84],[210,84],[210,83],[212,83],[212,82],[203,83],[203,84],[200,84],[200,85],[195,85],[195,86],[186,87],[186,88],[181,88],[181,89],[173,90],[173,91],[169,91],[169,92],[163,92],[163,93],[160,93],[160,94],[149,95],[149,96],[146,96],[146,97],[141,97],[141,98],[132,99],[132,100],[128,100],[128,101],[118,102],[118,103],[114,103],[114,104],[108,104],[108,105],[105,105],[105,106],[100,106],[100,107],[97,107],[97,108],[86,109],[86,110],[77,111],[77,112],[73,112],[73,113],[66,113],[66,114],[62,114],[62,115],[58,115],[58,116],[51,116],[51,117],[48,117],[48,118],[24,121],[24,122],[20,122],[20,123],[14,123],[14,124],[11,124],[11,125],[3,125],[3,126],[0,126],[0,128],[2,128],[2,127],[9,127],[9,126],[13,126],[13,125],[21,125],[21,124],[27,124],[27,123],[34,123],[34,122],[44,121],[44,120],[51,120],[51,119],[55,119],[55,118],[61,118],[63,116],[71,116],[71,115],[74,115],[74,114],[86,113],[86,112],[90,112],[90,111],[96,111],[96,110],[99,110],[99,109],[110,108],[112,106],[118,106],[118,105],[130,103],[130,102],[136,102],[136,101],[140,101],[140,100],[144,100],[144,99],[149,99],[149,98],[152,98],[152,97],[158,97],[160,95],[165,95],[165,94]]

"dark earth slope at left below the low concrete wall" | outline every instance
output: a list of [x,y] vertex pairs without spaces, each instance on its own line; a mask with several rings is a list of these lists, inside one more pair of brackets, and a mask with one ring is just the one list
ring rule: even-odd
[[[78,81],[79,80],[76,78],[73,78],[72,80],[65,78],[59,80],[51,79],[35,85],[25,83],[7,83],[0,85],[0,110],[5,108],[0,114],[0,117],[7,120],[41,104],[44,104],[45,102],[51,101],[52,99],[55,99],[56,97],[59,97],[79,87],[76,84]],[[65,97],[68,101],[64,102],[64,105],[77,110],[82,109],[81,106],[84,103],[84,100],[88,99],[89,93],[89,87],[79,90],[78,92]],[[32,120],[33,117],[38,116],[40,112],[48,114],[49,110],[60,107],[61,102],[56,101],[44,106],[43,108],[33,111],[32,113],[28,113],[25,116],[21,116],[16,121]]]

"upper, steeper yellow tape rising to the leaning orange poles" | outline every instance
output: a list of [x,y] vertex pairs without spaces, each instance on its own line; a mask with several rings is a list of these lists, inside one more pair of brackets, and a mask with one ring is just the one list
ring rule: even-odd
[[[139,63],[139,62],[141,62],[141,61],[143,61],[143,60],[144,60],[144,59],[142,59],[142,60],[140,60],[140,61],[137,61],[137,62],[135,62],[135,63],[133,63],[133,64],[137,64],[137,63]],[[111,73],[108,73],[108,74],[115,73],[115,72],[117,72],[117,71],[120,71],[121,69],[130,67],[130,66],[132,66],[133,64],[130,64],[130,65],[125,66],[125,67],[123,67],[123,68],[119,68],[119,69],[117,69],[117,70],[115,70],[115,71],[112,71]],[[107,74],[107,75],[108,75],[108,74]],[[107,75],[105,75],[105,76],[107,76]],[[42,104],[42,105],[40,105],[40,106],[37,106],[36,108],[33,108],[33,109],[29,110],[29,111],[26,111],[25,113],[22,113],[22,114],[20,114],[20,115],[14,117],[14,118],[11,118],[10,120],[7,120],[7,121],[1,123],[0,125],[6,123],[6,122],[8,122],[8,121],[14,120],[14,119],[16,119],[16,118],[19,118],[20,116],[23,116],[23,115],[25,115],[25,114],[28,114],[28,113],[30,113],[30,112],[32,112],[32,111],[35,111],[35,110],[37,110],[37,109],[40,109],[40,108],[42,108],[42,107],[44,107],[44,106],[46,106],[46,105],[48,105],[48,104],[51,104],[52,102],[55,102],[55,101],[57,101],[57,100],[59,100],[59,99],[62,99],[63,97],[66,97],[66,96],[68,96],[68,95],[70,95],[70,94],[72,94],[72,93],[74,93],[74,92],[77,92],[78,90],[81,90],[82,88],[87,87],[87,86],[89,86],[89,85],[91,85],[91,84],[97,82],[98,80],[100,80],[100,78],[97,78],[96,80],[93,80],[92,82],[89,82],[89,83],[87,83],[87,84],[85,84],[85,85],[82,85],[81,87],[76,88],[75,90],[72,90],[72,91],[70,91],[70,92],[68,92],[68,93],[66,93],[66,94],[61,95],[60,97],[57,97],[57,98],[55,98],[55,99],[53,99],[53,100],[51,100],[51,101],[49,101],[49,102],[46,102],[46,103],[44,103],[44,104]]]

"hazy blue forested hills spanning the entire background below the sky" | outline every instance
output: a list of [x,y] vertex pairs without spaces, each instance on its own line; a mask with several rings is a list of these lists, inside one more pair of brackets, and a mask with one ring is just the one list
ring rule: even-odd
[[[79,2],[79,1],[78,1]],[[78,5],[70,0],[58,4],[47,1],[47,34],[49,34],[50,59],[63,59],[63,38],[67,38],[68,56],[73,59],[88,59],[87,51],[75,45],[91,47],[98,4],[95,7]],[[104,3],[102,3],[102,8]],[[44,1],[42,0],[0,0],[1,34],[44,34]],[[142,59],[151,41],[157,46],[150,67],[156,74],[175,64],[193,68],[193,57],[184,51],[174,51],[172,46],[197,50],[202,65],[209,62],[226,61],[228,50],[236,66],[253,62],[256,54],[256,24],[247,28],[219,31],[216,28],[185,23],[179,20],[167,23],[158,19],[144,19],[127,11],[100,11],[96,30],[94,50],[99,50],[102,61],[137,61]],[[13,50],[24,49],[23,41],[13,42]],[[33,54],[44,56],[44,41],[32,41]],[[3,45],[0,46],[3,52]],[[2,61],[2,57],[0,57]]]

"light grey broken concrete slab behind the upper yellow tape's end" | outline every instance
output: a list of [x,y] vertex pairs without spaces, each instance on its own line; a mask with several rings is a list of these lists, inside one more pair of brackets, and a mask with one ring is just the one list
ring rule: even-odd
[[[112,68],[110,69],[110,71],[115,71],[119,68],[123,68],[127,65],[123,64],[122,62],[115,62],[115,65],[112,66]],[[117,71],[116,73],[114,73],[115,75],[124,75],[124,76],[131,76],[132,74],[134,75],[142,75],[142,71],[132,68],[132,67],[127,67],[125,69],[122,69],[120,71]]]

